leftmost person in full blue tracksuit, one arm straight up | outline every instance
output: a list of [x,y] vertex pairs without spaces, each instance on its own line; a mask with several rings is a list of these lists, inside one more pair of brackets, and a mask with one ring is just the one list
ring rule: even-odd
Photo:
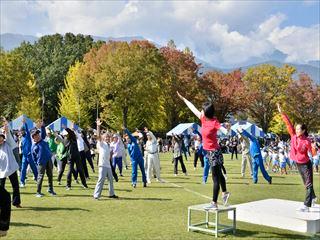
[[25,187],[25,181],[26,181],[26,174],[27,174],[27,168],[30,164],[30,167],[32,169],[34,179],[36,180],[38,178],[38,170],[35,165],[35,162],[31,155],[31,136],[30,131],[28,129],[28,125],[26,123],[26,120],[22,120],[23,126],[20,129],[20,135],[21,135],[21,150],[22,150],[22,164],[21,164],[21,174],[20,174],[20,187]]

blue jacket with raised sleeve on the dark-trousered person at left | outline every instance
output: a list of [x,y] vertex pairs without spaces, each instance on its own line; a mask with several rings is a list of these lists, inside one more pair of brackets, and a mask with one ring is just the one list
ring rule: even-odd
[[46,138],[46,129],[44,126],[41,127],[41,141],[32,145],[32,156],[34,161],[38,165],[46,165],[48,161],[51,161],[51,151],[49,144],[44,141]]

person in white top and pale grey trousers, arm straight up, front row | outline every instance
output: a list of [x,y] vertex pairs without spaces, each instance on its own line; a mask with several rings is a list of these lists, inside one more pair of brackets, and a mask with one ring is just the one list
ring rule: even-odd
[[109,181],[109,198],[118,198],[118,196],[116,196],[114,193],[113,175],[110,165],[110,136],[108,133],[104,133],[102,136],[100,135],[101,124],[102,122],[99,119],[97,119],[97,150],[99,152],[99,177],[93,194],[93,198],[96,200],[98,200],[101,196],[101,192],[106,178],[108,178]]

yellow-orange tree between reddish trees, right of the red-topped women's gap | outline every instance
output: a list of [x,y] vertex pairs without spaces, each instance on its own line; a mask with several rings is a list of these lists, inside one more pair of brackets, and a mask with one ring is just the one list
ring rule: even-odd
[[285,98],[295,68],[269,64],[249,68],[243,78],[247,93],[247,112],[264,132],[268,132],[276,103]]

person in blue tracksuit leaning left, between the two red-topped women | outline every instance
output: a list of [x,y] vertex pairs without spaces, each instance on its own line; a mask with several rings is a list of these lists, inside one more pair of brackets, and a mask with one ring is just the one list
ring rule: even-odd
[[266,179],[267,182],[271,184],[272,177],[269,176],[269,174],[264,168],[263,159],[260,151],[260,144],[258,140],[254,136],[252,136],[250,133],[248,133],[246,130],[242,129],[241,127],[238,128],[238,132],[243,137],[246,137],[250,141],[250,155],[252,158],[253,183],[258,183],[258,169],[260,168],[264,179]]

